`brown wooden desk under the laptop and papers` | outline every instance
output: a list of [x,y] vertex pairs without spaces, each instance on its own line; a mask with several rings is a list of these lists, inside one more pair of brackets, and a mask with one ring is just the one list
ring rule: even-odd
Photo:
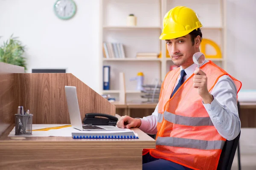
[[72,137],[0,137],[0,169],[141,170],[142,149],[155,140],[138,128],[139,139],[72,139]]

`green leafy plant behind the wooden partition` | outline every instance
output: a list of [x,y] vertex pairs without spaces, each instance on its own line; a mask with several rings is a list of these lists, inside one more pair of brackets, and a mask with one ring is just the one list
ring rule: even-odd
[[26,70],[26,59],[23,57],[25,46],[17,38],[11,35],[9,40],[0,46],[0,62],[18,65]]

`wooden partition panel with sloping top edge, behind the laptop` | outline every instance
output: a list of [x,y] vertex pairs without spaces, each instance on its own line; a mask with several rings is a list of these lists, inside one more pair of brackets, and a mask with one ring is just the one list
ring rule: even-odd
[[15,74],[15,108],[33,114],[33,124],[70,124],[65,85],[76,86],[81,119],[85,113],[115,115],[116,107],[69,73]]

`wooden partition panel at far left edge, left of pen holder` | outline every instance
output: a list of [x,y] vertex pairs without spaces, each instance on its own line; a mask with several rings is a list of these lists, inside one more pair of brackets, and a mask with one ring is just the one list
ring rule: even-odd
[[24,68],[0,62],[0,135],[14,123],[14,73],[24,73]]

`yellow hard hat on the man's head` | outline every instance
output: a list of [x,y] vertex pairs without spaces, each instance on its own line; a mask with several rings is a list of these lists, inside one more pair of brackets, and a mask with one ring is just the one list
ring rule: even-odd
[[202,27],[198,16],[191,8],[176,6],[168,11],[163,18],[163,31],[160,40],[183,37],[194,29]]

